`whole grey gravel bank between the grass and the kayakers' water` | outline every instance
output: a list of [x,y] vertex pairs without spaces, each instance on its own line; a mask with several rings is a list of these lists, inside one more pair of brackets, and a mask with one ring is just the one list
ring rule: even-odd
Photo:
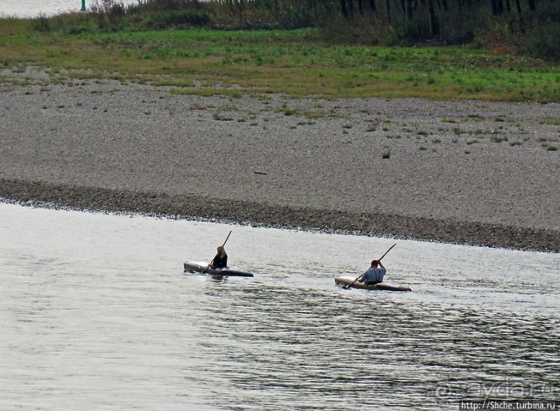
[[0,197],[559,252],[559,120],[558,103],[0,85]]

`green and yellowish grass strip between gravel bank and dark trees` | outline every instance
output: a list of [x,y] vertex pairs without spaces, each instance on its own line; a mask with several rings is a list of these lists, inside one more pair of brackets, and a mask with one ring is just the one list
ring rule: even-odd
[[0,31],[0,64],[20,74],[0,84],[32,82],[24,73],[38,67],[53,83],[112,79],[178,94],[560,100],[560,67],[468,47],[330,46],[312,29],[69,35],[15,26]]

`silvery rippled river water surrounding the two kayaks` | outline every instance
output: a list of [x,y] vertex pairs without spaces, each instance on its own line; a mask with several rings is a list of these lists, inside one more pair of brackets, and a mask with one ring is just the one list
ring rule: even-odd
[[[230,263],[254,278],[183,273]],[[559,398],[558,254],[0,203],[0,410],[439,410]],[[407,408],[411,407],[411,408]]]

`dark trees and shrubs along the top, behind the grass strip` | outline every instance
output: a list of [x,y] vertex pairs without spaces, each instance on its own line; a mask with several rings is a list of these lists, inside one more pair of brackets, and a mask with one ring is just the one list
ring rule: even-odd
[[[0,34],[18,29],[12,19],[0,21]],[[558,0],[95,0],[87,13],[42,16],[33,26],[72,34],[320,28],[330,44],[475,44],[560,61]]]

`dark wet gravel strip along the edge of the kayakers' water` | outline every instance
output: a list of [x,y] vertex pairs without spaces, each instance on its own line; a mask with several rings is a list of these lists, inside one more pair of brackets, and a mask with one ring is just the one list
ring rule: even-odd
[[[0,202],[52,209],[135,213],[265,228],[316,230],[457,245],[560,252],[559,233],[549,229],[526,229],[380,213],[274,207],[186,195],[123,192],[94,187],[0,180]],[[377,223],[372,225],[371,221]]]

